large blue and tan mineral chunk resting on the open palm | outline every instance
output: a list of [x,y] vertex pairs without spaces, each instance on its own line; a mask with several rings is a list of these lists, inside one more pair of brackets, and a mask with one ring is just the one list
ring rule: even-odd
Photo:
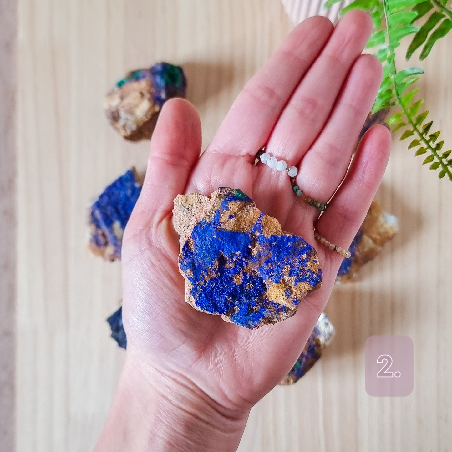
[[241,190],[174,199],[185,301],[223,320],[259,328],[295,314],[321,285],[315,248],[286,234]]

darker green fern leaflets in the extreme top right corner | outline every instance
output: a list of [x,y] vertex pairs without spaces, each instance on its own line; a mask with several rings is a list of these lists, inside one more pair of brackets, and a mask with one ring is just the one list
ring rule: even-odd
[[424,60],[432,50],[433,45],[452,29],[452,0],[427,0],[418,3],[411,11],[416,13],[411,23],[414,24],[414,22],[419,21],[432,9],[432,14],[416,32],[406,51],[407,60],[422,45],[424,47],[419,59]]

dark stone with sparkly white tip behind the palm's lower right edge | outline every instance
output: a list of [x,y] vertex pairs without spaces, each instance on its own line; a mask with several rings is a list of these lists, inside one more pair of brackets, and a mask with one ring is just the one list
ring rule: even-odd
[[330,319],[322,312],[315,324],[314,330],[306,342],[297,362],[290,372],[281,380],[280,385],[291,385],[300,380],[301,377],[318,361],[323,348],[330,344],[335,333]]

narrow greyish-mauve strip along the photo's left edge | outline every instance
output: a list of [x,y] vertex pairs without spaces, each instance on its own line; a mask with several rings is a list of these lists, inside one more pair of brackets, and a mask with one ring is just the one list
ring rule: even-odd
[[15,448],[17,3],[0,0],[0,450]]

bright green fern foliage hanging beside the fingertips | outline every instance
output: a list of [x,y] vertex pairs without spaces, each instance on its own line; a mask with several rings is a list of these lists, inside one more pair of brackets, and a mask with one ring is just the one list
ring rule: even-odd
[[[328,0],[325,6],[338,1]],[[376,48],[374,55],[383,66],[383,80],[372,113],[398,107],[399,111],[387,120],[391,131],[402,130],[400,140],[410,138],[408,149],[414,149],[414,155],[427,154],[423,165],[429,164],[430,170],[439,170],[440,179],[447,174],[452,181],[452,150],[441,152],[444,142],[436,143],[440,132],[430,133],[433,122],[427,122],[428,110],[419,113],[424,100],[415,100],[419,88],[412,85],[424,71],[417,67],[397,71],[395,66],[395,49],[400,46],[401,39],[414,35],[407,59],[423,44],[421,56],[425,58],[434,43],[452,29],[449,2],[452,0],[354,0],[340,15],[352,9],[363,9],[372,16],[374,31],[367,48]],[[420,28],[414,25],[434,8],[424,25]],[[450,19],[447,18],[449,14]]]

